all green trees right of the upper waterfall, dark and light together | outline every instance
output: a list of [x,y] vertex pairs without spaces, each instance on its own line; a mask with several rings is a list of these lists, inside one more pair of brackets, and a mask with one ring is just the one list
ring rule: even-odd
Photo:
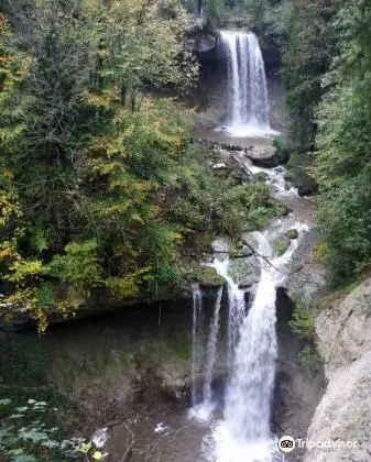
[[370,6],[291,0],[282,12],[294,144],[288,168],[302,190],[319,185],[321,260],[330,284],[341,285],[371,257]]

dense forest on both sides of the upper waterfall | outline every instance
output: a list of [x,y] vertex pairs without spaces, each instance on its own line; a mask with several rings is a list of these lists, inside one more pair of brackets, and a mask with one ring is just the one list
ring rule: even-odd
[[[217,234],[264,226],[261,182],[210,174],[193,144],[199,2],[9,0],[0,14],[0,273],[46,327],[95,290],[159,296],[199,277]],[[367,0],[208,0],[206,28],[243,11],[280,37],[288,166],[318,185],[331,283],[371,256],[371,7]],[[164,97],[163,95],[167,95]],[[176,96],[176,97],[175,97]]]

